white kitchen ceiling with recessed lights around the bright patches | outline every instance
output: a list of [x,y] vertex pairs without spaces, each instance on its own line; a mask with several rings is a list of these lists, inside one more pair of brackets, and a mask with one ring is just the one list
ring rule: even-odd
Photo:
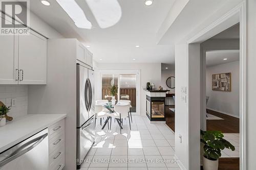
[[101,29],[86,1],[76,0],[92,23],[92,30],[77,28],[54,0],[50,0],[49,7],[40,1],[30,1],[30,8],[63,36],[78,38],[85,45],[90,45],[89,50],[97,62],[174,63],[174,57],[171,57],[174,46],[157,45],[156,40],[156,34],[174,1],[154,1],[152,6],[145,6],[144,0],[118,0],[122,11],[119,22],[113,27]]

